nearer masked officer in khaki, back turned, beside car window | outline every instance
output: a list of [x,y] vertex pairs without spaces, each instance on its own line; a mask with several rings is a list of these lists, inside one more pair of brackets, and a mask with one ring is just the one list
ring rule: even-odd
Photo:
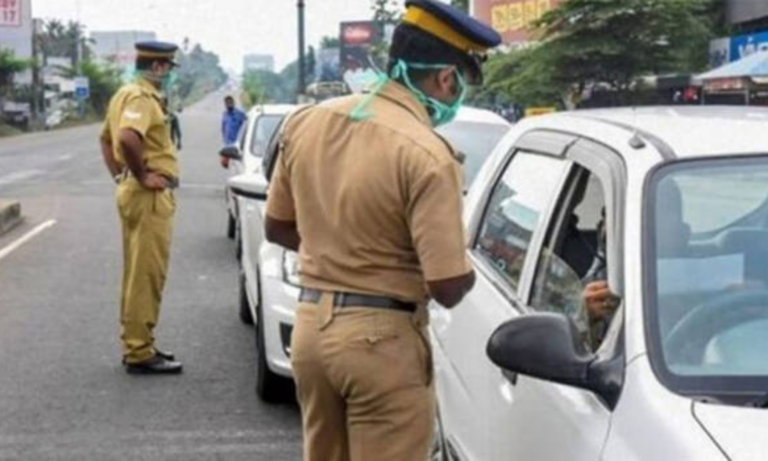
[[291,357],[305,461],[426,459],[426,304],[455,306],[474,284],[461,165],[433,128],[500,37],[441,2],[406,8],[371,94],[287,121],[268,194],[267,238],[300,256]]

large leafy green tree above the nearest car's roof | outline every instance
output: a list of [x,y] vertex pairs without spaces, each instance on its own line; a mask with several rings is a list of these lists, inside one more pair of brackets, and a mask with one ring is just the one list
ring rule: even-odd
[[566,0],[535,24],[542,42],[526,62],[545,72],[536,75],[553,84],[568,107],[584,89],[600,85],[626,102],[641,76],[697,70],[691,67],[706,59],[706,47],[696,55],[694,44],[712,35],[702,21],[712,1]]

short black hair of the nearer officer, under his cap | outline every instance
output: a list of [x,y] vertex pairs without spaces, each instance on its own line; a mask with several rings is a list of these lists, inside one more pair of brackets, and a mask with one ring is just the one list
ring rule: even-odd
[[[454,65],[460,71],[468,72],[472,69],[470,59],[468,55],[434,35],[410,24],[400,23],[395,29],[389,48],[387,71],[391,74],[397,61],[403,60],[406,63]],[[437,71],[409,68],[408,76],[412,81],[419,82]]]

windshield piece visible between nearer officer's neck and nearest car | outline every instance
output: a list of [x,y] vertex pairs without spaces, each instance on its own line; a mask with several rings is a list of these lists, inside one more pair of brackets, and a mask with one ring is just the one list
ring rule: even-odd
[[464,154],[464,187],[469,188],[480,167],[509,130],[501,123],[453,122],[438,128],[453,147]]

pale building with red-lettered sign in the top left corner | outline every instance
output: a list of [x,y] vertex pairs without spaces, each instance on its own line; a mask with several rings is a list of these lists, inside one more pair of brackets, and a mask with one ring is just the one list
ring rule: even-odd
[[[32,0],[0,0],[0,48],[10,49],[17,58],[32,58]],[[32,73],[15,76],[16,84],[32,83]]]

